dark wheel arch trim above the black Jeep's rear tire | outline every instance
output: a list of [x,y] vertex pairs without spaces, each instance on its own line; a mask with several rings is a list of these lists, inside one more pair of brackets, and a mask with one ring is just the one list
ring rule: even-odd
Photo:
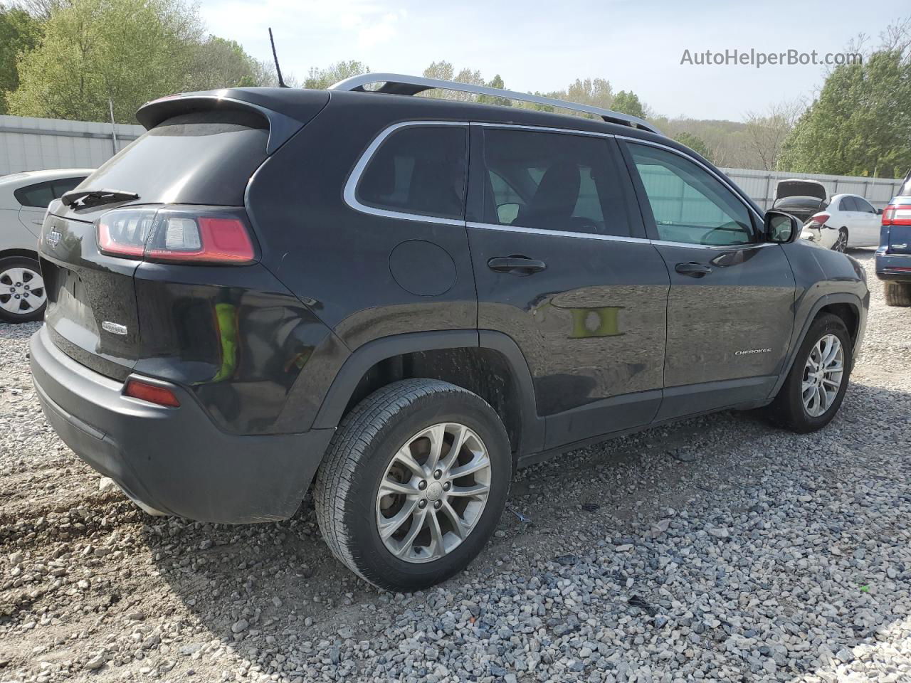
[[336,374],[312,426],[332,429],[369,393],[416,377],[453,383],[490,403],[516,456],[542,447],[544,420],[525,357],[506,334],[486,330],[414,332],[363,344]]

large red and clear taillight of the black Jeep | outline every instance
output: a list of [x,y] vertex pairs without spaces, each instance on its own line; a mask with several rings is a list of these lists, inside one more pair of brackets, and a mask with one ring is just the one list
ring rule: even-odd
[[242,210],[116,209],[97,219],[98,250],[169,263],[241,265],[256,258]]

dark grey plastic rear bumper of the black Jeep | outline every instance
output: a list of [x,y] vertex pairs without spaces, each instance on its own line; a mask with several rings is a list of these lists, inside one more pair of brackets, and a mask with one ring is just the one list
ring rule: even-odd
[[41,407],[64,443],[131,498],[169,515],[227,524],[290,517],[333,435],[225,433],[178,386],[168,384],[179,408],[124,396],[121,382],[60,352],[45,328],[30,351]]

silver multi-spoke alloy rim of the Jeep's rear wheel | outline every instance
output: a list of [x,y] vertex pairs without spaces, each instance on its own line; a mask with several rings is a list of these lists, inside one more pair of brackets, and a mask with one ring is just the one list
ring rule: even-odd
[[466,425],[439,423],[416,433],[394,454],[376,495],[386,548],[412,563],[452,552],[484,513],[490,476],[486,446]]

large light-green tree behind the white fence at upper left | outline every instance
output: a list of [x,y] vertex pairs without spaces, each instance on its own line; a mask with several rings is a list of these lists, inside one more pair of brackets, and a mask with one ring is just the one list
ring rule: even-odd
[[54,10],[41,44],[20,57],[18,116],[129,123],[143,103],[184,89],[202,37],[183,0],[70,0]]

